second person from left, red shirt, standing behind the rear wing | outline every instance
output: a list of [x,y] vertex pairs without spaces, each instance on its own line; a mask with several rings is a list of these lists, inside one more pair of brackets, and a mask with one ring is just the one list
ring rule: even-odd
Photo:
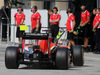
[[32,33],[40,33],[41,30],[41,15],[37,12],[37,6],[33,6],[31,8],[32,15],[31,15],[31,26],[32,26]]

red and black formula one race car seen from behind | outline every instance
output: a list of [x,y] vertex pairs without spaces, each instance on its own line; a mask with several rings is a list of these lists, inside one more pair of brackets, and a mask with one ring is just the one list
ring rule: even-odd
[[[5,66],[7,69],[17,69],[20,64],[49,63],[58,69],[68,69],[70,64],[83,66],[83,49],[75,45],[68,46],[51,42],[51,33],[24,33],[21,47],[10,46],[5,52]],[[35,39],[35,45],[25,44],[25,40]]]

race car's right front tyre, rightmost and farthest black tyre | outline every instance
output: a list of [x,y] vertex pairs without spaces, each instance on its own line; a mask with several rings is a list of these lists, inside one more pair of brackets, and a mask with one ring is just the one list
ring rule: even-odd
[[72,49],[72,61],[74,66],[83,66],[83,48],[80,45],[73,46]]

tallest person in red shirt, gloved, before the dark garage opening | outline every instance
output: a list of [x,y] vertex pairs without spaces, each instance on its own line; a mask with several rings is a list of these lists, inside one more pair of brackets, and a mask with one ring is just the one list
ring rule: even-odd
[[86,10],[86,7],[84,5],[81,6],[82,13],[81,13],[81,22],[80,27],[83,29],[83,35],[84,35],[84,51],[89,52],[88,48],[88,37],[89,37],[89,27],[90,27],[90,12]]

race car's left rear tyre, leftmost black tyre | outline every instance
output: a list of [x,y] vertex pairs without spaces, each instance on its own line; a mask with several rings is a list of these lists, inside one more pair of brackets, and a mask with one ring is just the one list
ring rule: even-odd
[[5,66],[7,69],[17,69],[19,67],[17,47],[7,47],[6,48]]

